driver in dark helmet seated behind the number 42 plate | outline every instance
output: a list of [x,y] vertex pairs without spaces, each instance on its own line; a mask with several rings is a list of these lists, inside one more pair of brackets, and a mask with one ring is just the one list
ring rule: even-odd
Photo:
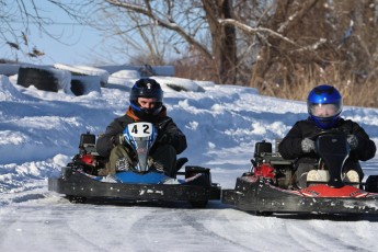
[[158,138],[150,150],[152,167],[175,177],[176,156],[186,149],[186,137],[167,116],[160,84],[148,78],[136,81],[129,101],[126,114],[115,118],[96,141],[99,154],[108,157],[106,168],[99,171],[99,174],[112,175],[116,170],[127,170],[135,163],[136,157],[126,146],[123,131],[128,124],[148,122],[158,128]]

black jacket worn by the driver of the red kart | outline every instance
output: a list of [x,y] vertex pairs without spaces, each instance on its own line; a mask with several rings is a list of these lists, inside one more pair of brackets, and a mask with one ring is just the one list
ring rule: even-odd
[[[375,157],[376,145],[370,140],[366,131],[351,119],[340,118],[333,129],[340,130],[346,135],[355,135],[358,139],[358,147],[350,153],[350,161],[366,161]],[[317,158],[314,152],[303,153],[301,140],[306,137],[311,138],[322,131],[310,118],[297,122],[286,137],[280,141],[278,151],[285,159],[296,158]]]

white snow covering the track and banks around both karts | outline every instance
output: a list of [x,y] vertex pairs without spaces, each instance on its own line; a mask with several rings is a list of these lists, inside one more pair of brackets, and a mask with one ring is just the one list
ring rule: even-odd
[[[185,203],[73,205],[47,191],[47,177],[77,153],[80,134],[99,135],[125,113],[137,78],[114,72],[107,88],[75,96],[26,89],[15,84],[16,76],[0,76],[0,251],[376,251],[374,216],[260,217],[220,202],[205,209]],[[282,138],[307,116],[305,102],[250,88],[156,79],[188,140],[181,156],[210,168],[222,188],[233,188],[250,169],[256,141]],[[345,107],[343,116],[378,145],[378,110]],[[366,176],[377,173],[377,157],[362,165]]]

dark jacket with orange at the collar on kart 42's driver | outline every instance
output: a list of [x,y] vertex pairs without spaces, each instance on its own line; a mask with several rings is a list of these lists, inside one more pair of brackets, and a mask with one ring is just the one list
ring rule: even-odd
[[[106,131],[99,137],[96,141],[98,153],[102,157],[108,157],[116,145],[117,135],[122,134],[128,124],[138,121],[138,117],[135,116],[130,108],[125,115],[115,118],[106,127]],[[159,148],[159,145],[172,145],[177,154],[186,149],[185,135],[173,123],[173,119],[167,116],[167,108],[164,106],[159,115],[154,116],[149,123],[152,123],[158,128],[158,138],[152,148]]]

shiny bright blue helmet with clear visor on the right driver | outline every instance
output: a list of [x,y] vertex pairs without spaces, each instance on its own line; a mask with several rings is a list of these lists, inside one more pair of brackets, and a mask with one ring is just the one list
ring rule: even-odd
[[307,98],[307,108],[310,118],[322,129],[333,127],[343,110],[343,99],[332,85],[318,85]]

